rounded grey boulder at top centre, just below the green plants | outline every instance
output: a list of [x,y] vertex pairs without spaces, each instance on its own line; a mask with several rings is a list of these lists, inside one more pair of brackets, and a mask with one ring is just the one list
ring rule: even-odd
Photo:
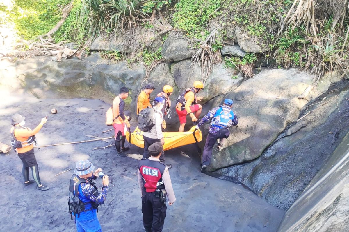
[[172,34],[165,40],[161,55],[166,61],[181,61],[192,58],[194,50],[190,49],[188,40]]

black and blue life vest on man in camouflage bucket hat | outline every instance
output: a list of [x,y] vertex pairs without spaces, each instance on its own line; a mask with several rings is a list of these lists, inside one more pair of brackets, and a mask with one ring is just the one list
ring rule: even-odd
[[73,174],[72,178],[70,178],[69,182],[69,198],[68,198],[68,206],[69,206],[69,214],[73,220],[74,217],[79,218],[81,212],[86,212],[92,209],[97,209],[98,212],[98,204],[93,201],[82,201],[79,198],[79,185],[81,183],[87,183],[94,187],[95,191],[92,192],[96,197],[99,195],[97,186],[95,183],[88,181],[87,179],[80,178],[79,176]]

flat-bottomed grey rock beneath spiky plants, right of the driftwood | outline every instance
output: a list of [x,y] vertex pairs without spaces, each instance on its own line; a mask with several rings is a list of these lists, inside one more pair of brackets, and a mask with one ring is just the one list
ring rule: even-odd
[[126,38],[121,35],[99,35],[91,44],[91,51],[120,51],[121,53],[131,53],[135,49],[128,46]]

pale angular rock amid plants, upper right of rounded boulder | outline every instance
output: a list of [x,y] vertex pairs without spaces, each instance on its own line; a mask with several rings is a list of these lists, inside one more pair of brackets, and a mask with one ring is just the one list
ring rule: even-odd
[[259,39],[246,32],[242,32],[240,28],[235,30],[235,35],[240,48],[248,53],[263,53],[269,51],[268,46],[263,44]]

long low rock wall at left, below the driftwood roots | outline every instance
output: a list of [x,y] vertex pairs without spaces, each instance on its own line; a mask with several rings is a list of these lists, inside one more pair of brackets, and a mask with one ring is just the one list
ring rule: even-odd
[[1,71],[1,83],[19,79],[22,86],[38,98],[59,95],[97,98],[111,103],[119,89],[126,86],[134,101],[145,76],[142,65],[130,69],[125,62],[105,64],[98,54],[84,60],[72,58],[53,62],[50,57],[40,57],[6,65]]

